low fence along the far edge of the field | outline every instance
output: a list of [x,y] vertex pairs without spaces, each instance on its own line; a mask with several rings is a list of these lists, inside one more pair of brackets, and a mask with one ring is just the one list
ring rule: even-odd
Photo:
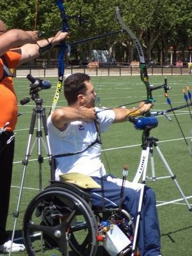
[[[154,66],[147,68],[148,75],[187,75],[191,74],[188,67],[175,66]],[[68,66],[65,68],[65,74],[74,74],[83,72],[90,76],[136,76],[140,74],[139,67],[132,66],[104,66],[88,67],[86,66]],[[58,68],[52,66],[20,66],[15,70],[16,77],[25,77],[28,74],[40,77],[58,76]]]

